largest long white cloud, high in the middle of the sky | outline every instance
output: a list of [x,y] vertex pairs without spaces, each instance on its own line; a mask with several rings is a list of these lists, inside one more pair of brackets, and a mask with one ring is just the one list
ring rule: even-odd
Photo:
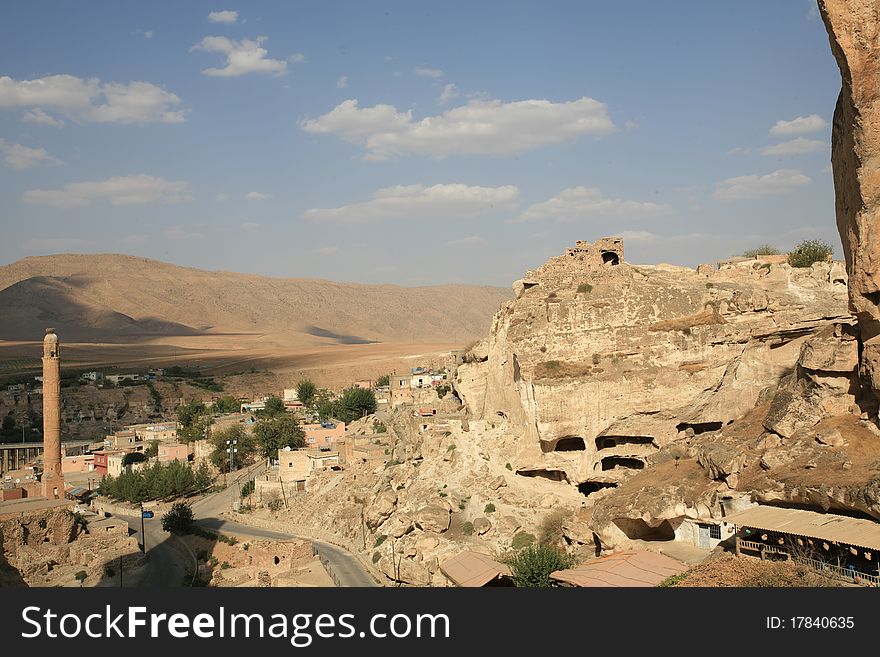
[[521,153],[584,135],[604,136],[615,129],[605,104],[586,97],[564,103],[472,100],[420,121],[393,105],[361,109],[357,100],[346,100],[323,116],[300,122],[300,127],[363,143],[366,158],[372,160],[412,154]]

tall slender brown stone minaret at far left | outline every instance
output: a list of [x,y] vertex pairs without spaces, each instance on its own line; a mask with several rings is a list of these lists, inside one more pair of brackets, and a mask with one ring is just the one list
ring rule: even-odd
[[61,474],[61,360],[55,329],[43,339],[43,496],[64,498]]

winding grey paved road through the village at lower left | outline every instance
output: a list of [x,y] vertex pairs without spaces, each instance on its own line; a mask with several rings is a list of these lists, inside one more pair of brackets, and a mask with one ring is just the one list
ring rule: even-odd
[[[196,518],[195,524],[204,529],[234,534],[236,537],[310,540],[315,546],[315,551],[330,564],[339,586],[377,586],[376,581],[363,568],[357,558],[343,548],[308,536],[252,527],[223,517],[223,512],[231,510],[233,502],[238,499],[241,485],[265,468],[266,464],[262,463],[242,470],[233,480],[230,480],[228,488],[194,502],[192,508]],[[141,541],[140,518],[119,517],[128,521],[131,529],[135,530],[138,541]],[[158,517],[145,520],[144,528],[147,534],[147,552],[150,557],[146,585],[155,587],[181,586],[186,572],[191,572],[193,568],[191,554],[179,541],[162,530],[162,523]]]

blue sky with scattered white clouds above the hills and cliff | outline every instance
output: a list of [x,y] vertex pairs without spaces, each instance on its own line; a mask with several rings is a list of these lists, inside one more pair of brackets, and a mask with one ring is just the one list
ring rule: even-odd
[[834,221],[815,2],[0,9],[0,264],[125,253],[508,286],[576,240],[696,266]]

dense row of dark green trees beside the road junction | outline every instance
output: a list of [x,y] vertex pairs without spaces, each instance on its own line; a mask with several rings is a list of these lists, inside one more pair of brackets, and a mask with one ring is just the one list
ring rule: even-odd
[[104,477],[98,492],[114,500],[137,504],[191,495],[207,489],[212,483],[213,478],[204,463],[193,470],[189,464],[180,461],[157,462],[142,470],[123,472],[118,477]]

